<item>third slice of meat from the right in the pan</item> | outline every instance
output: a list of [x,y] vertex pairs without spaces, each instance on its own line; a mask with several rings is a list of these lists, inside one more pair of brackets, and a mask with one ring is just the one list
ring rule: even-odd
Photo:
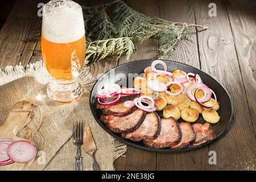
[[161,118],[161,131],[156,139],[145,139],[144,144],[152,148],[166,148],[180,142],[181,133],[173,118]]

